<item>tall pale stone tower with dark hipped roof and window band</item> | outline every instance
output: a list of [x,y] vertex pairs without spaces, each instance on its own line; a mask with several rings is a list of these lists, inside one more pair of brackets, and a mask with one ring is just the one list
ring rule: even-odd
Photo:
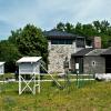
[[47,36],[49,44],[48,71],[50,73],[64,72],[63,61],[65,58],[68,58],[69,69],[71,69],[71,54],[85,47],[84,37],[58,30],[46,31],[44,36]]

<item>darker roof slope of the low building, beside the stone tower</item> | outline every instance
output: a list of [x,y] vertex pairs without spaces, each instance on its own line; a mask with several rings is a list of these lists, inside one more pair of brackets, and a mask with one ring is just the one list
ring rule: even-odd
[[92,50],[93,50],[92,48],[84,48],[84,49],[78,51],[77,53],[73,53],[72,57],[83,57]]

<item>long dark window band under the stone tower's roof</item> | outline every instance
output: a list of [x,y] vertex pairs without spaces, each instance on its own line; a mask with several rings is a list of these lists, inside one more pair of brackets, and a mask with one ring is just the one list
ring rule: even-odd
[[72,40],[56,39],[56,40],[51,40],[51,44],[72,44]]

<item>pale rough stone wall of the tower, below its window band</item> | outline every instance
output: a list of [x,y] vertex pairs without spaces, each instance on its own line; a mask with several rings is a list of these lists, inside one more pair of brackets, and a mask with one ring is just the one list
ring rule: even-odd
[[[50,73],[53,72],[64,72],[63,70],[63,61],[65,57],[68,57],[69,61],[71,59],[71,54],[77,51],[75,42],[72,44],[51,44],[49,41],[49,64],[48,70]],[[71,68],[71,64],[70,64]]]

